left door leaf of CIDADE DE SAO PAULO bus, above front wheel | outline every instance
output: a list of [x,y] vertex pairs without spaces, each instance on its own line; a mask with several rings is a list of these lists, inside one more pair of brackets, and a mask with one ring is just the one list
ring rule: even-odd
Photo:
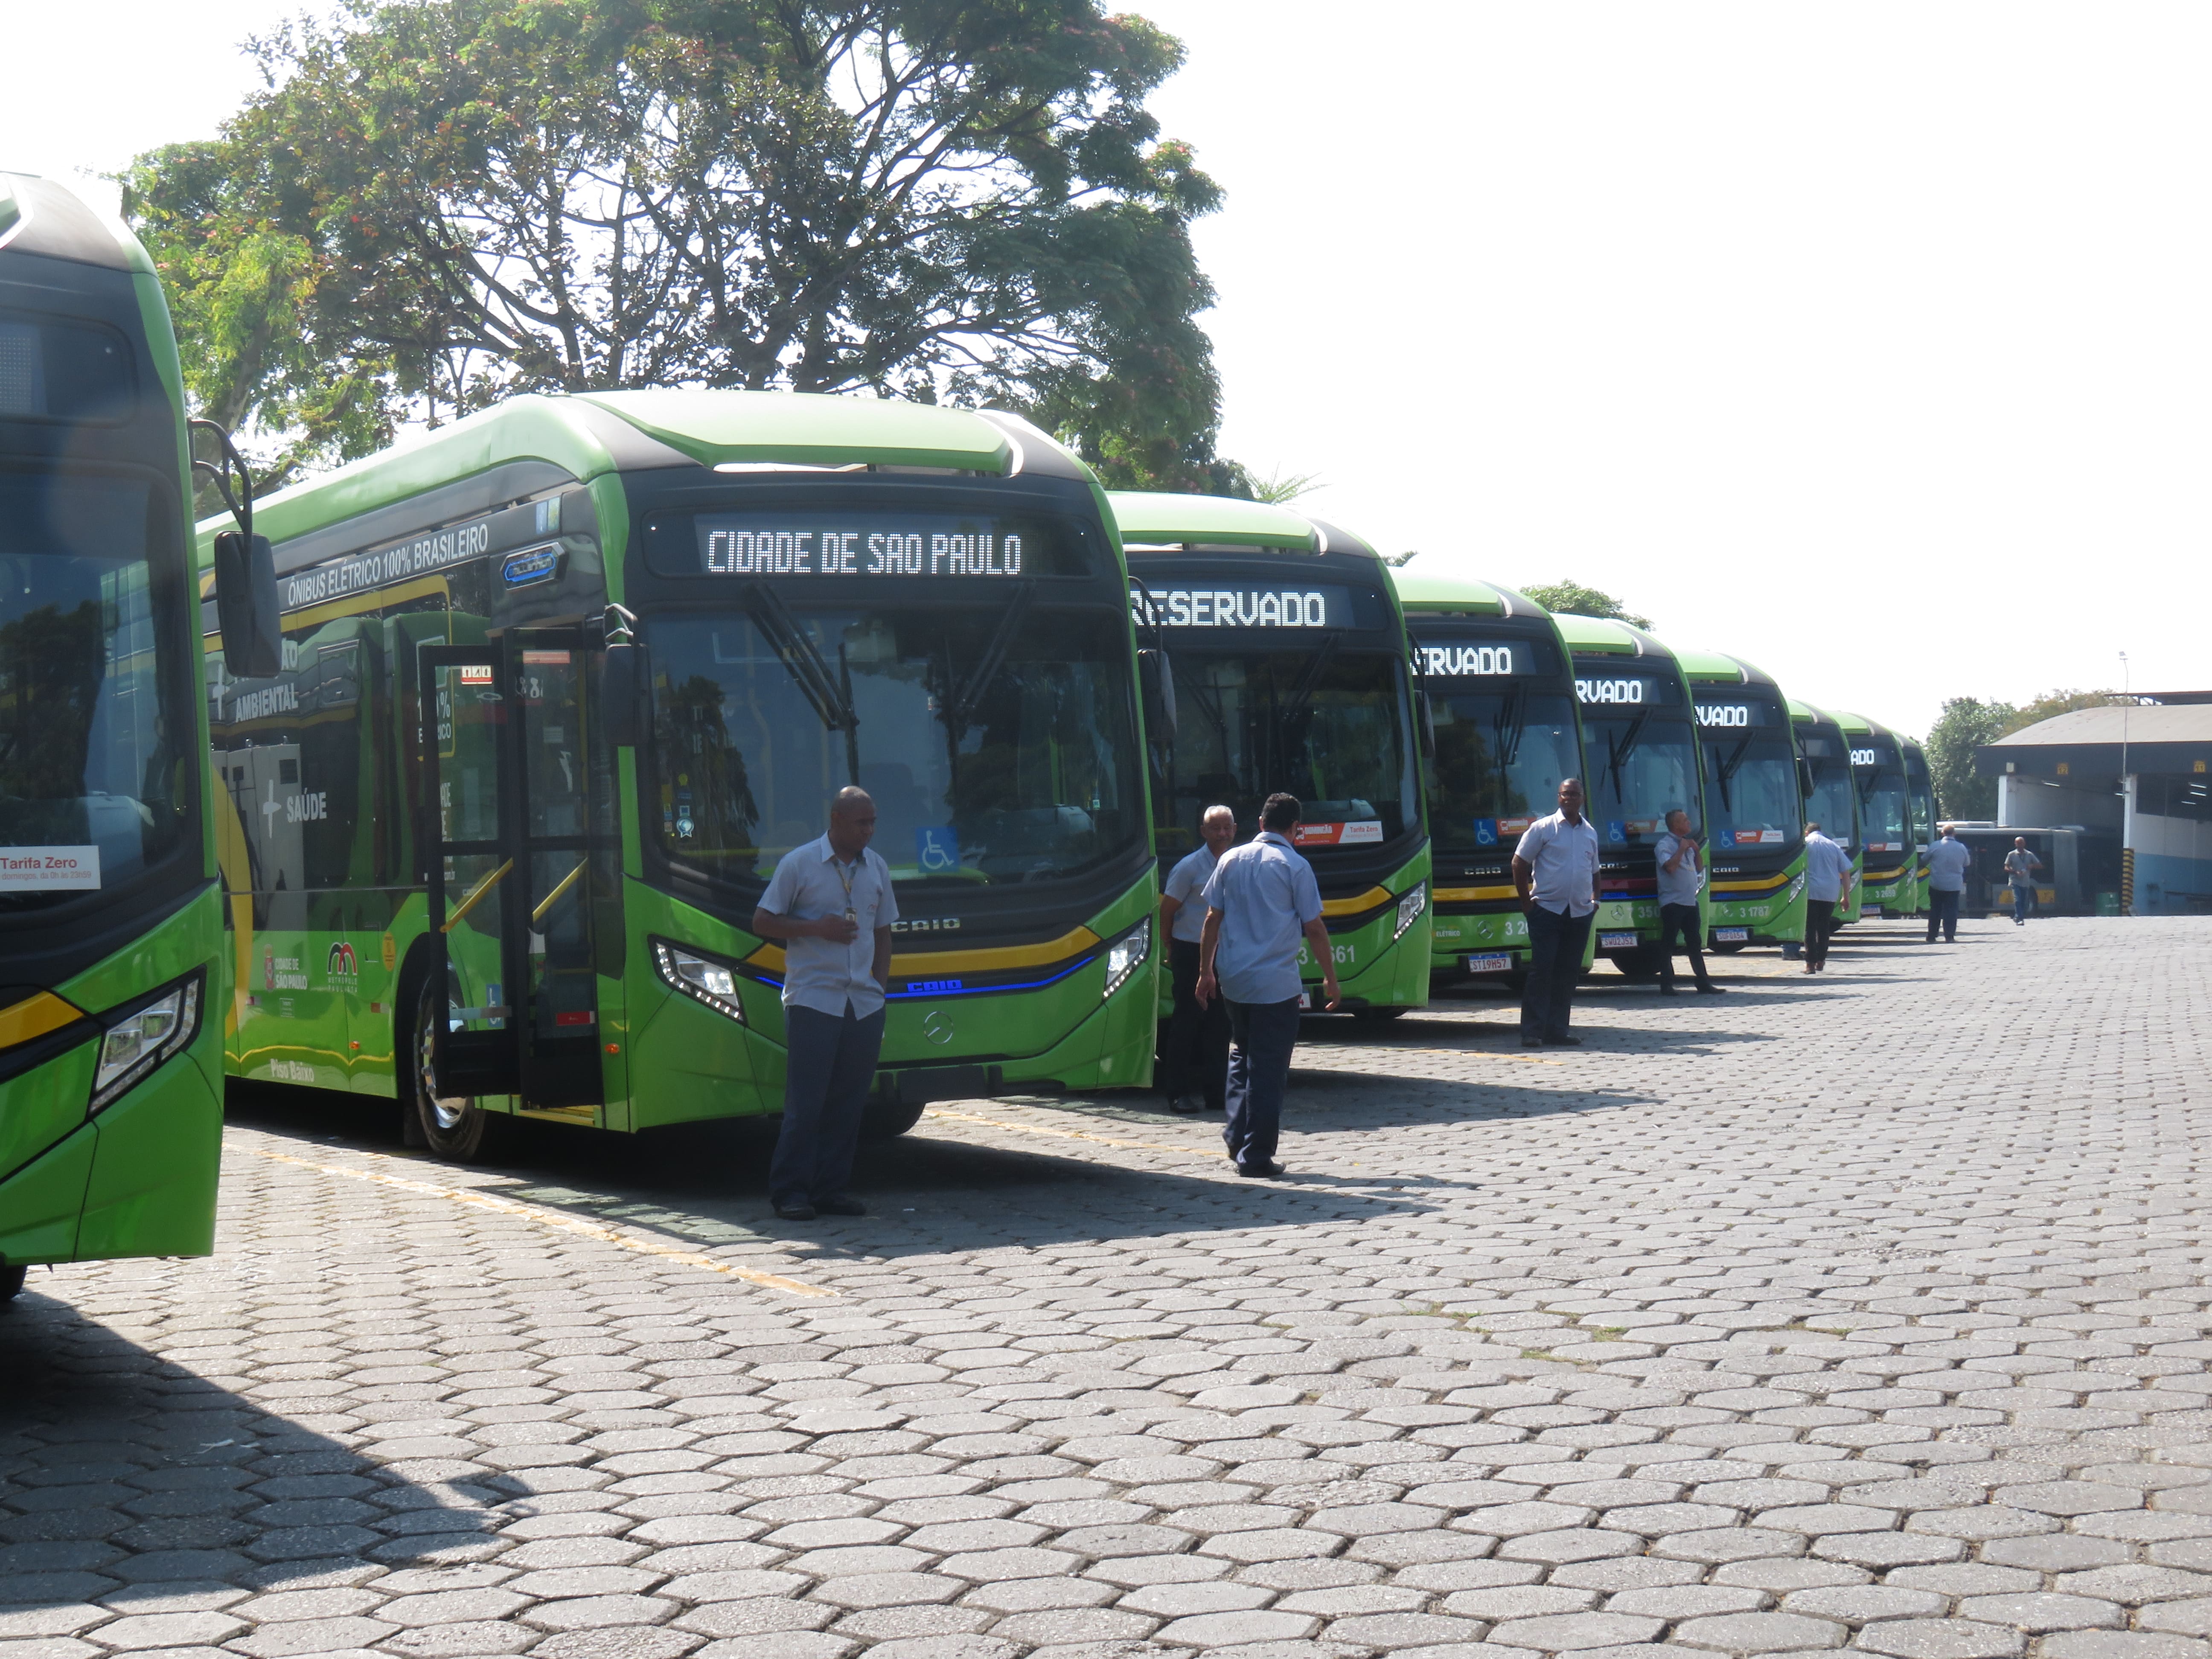
[[500,657],[498,644],[420,653],[429,933],[440,942],[431,995],[447,1009],[431,1024],[440,1095],[522,1091],[513,703]]

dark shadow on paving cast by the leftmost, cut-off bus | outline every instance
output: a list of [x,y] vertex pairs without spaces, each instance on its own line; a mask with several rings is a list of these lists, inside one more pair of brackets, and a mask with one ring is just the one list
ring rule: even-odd
[[354,1584],[498,1548],[498,1506],[520,1486],[403,1480],[40,1294],[38,1279],[0,1307],[0,1604],[197,1595],[210,1608],[223,1590]]

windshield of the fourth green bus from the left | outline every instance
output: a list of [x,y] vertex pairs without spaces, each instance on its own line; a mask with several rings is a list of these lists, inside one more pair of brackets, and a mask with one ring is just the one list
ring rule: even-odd
[[1429,781],[1429,834],[1442,854],[1511,847],[1531,818],[1553,812],[1559,781],[1575,776],[1575,701],[1566,692],[1495,684],[1438,690],[1436,770]]

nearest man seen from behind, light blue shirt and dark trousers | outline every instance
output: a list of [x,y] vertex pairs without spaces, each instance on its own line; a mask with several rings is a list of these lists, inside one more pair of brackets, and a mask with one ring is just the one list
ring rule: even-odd
[[1206,883],[1206,931],[1199,936],[1199,1006],[1217,995],[1230,1004],[1228,1141],[1239,1175],[1281,1175],[1274,1146],[1283,1133],[1290,1051],[1298,1042],[1298,938],[1314,947],[1327,1006],[1338,1002],[1336,956],[1321,925],[1314,867],[1290,845],[1305,807],[1270,794],[1259,836],[1221,854]]

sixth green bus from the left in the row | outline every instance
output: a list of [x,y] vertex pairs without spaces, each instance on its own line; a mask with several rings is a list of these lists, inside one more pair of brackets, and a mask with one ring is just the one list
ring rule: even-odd
[[1683,650],[1705,745],[1712,949],[1805,938],[1805,794],[1781,686],[1717,650]]

